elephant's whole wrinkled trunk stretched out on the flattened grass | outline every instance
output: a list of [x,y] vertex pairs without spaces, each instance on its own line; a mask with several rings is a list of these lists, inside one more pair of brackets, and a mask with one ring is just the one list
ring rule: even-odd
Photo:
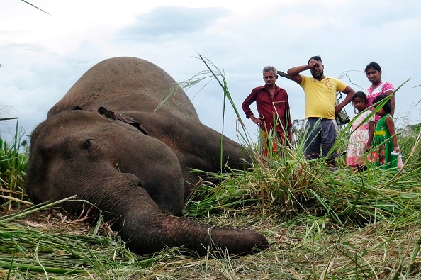
[[[110,172],[108,172],[110,173]],[[253,230],[212,227],[186,218],[165,215],[133,174],[114,172],[99,177],[96,184],[78,194],[101,209],[105,220],[113,220],[116,229],[131,251],[148,254],[164,247],[186,247],[198,254],[213,252],[249,254],[268,247],[266,238]],[[110,178],[113,178],[112,180]],[[118,184],[115,184],[118,181]],[[77,213],[81,202],[69,201],[64,208]],[[96,215],[95,209],[91,212]]]

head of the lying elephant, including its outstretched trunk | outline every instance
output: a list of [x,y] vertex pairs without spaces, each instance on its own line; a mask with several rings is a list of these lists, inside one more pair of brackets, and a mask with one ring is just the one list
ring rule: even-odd
[[[208,246],[233,254],[267,246],[252,230],[211,228],[181,214],[184,181],[179,161],[163,142],[99,113],[64,111],[33,131],[26,192],[34,203],[74,194],[101,210],[130,250],[149,253],[185,246],[203,253]],[[81,202],[65,202],[82,211]]]

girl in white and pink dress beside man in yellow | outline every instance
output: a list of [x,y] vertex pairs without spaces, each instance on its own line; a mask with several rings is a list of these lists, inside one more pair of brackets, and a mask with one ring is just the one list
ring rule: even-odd
[[374,116],[369,118],[370,110],[363,113],[368,103],[364,92],[357,91],[352,96],[352,103],[359,113],[357,114],[357,119],[352,123],[352,133],[349,137],[347,149],[347,165],[363,170],[367,160],[364,154],[366,150],[370,150],[371,141],[373,140]]

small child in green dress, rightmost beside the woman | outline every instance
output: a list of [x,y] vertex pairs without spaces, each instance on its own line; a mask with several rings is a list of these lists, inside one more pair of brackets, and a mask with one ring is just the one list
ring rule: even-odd
[[[381,94],[374,99],[373,103],[382,101],[386,97],[386,95]],[[381,169],[398,167],[398,157],[392,154],[392,152],[400,154],[400,149],[391,112],[391,101],[388,100],[377,112],[381,118],[377,122],[374,139],[371,142],[374,147],[373,152],[371,152],[371,162],[374,162]]]

